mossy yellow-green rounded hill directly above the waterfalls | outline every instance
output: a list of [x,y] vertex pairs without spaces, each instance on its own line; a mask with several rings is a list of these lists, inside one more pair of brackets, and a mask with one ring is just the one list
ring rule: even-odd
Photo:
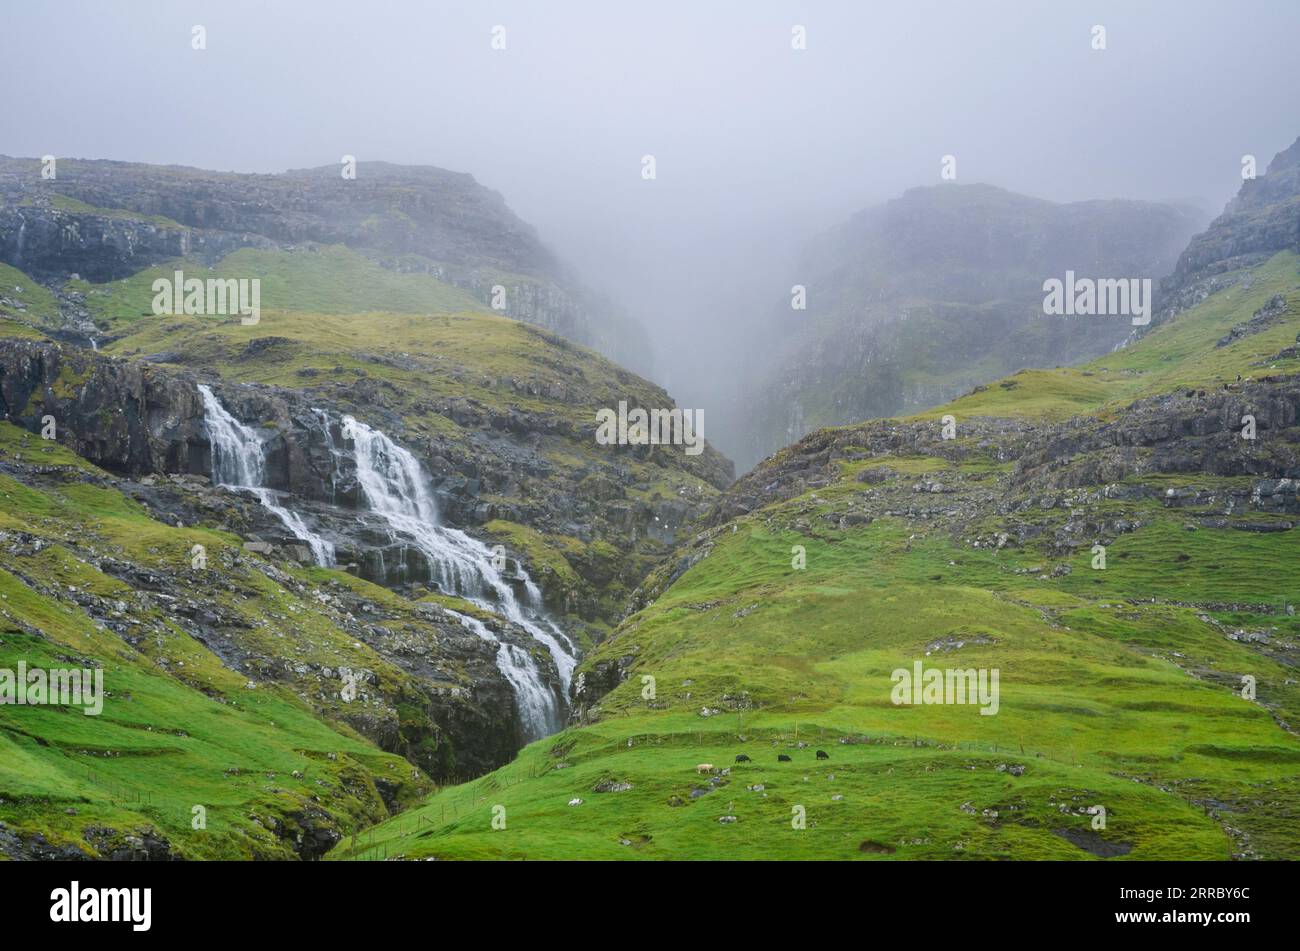
[[[153,316],[153,282],[178,269],[257,278],[260,321]],[[419,450],[450,520],[506,544],[584,639],[586,625],[598,638],[620,616],[679,526],[731,479],[711,448],[595,443],[597,409],[672,405],[662,388],[429,274],[342,246],[244,248],[212,268],[176,259],[122,281],[69,281],[62,295],[90,316],[105,356],[300,391]],[[5,333],[53,333],[57,308],[43,307],[0,304]]]

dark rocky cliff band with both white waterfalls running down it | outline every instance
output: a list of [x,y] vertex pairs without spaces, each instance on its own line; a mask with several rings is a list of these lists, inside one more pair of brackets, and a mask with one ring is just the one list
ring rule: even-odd
[[[381,624],[364,639],[413,676],[428,726],[395,730],[391,717],[337,698],[318,704],[381,748],[436,778],[463,777],[563,725],[578,653],[573,638],[519,560],[446,525],[425,468],[364,421],[294,391],[213,390],[187,374],[17,340],[0,347],[0,412],[31,433],[57,420],[64,444],[117,476],[114,485],[156,517],[234,530],[252,556],[342,568],[415,598],[411,611],[434,628],[432,643],[413,656],[400,638],[390,643],[387,624],[410,618],[385,617],[373,604],[363,611]],[[166,578],[156,581],[166,587]],[[188,613],[195,617],[181,622],[198,628],[233,669],[302,685],[318,673],[256,656],[216,598]],[[438,686],[448,664],[468,673],[468,694]],[[334,677],[347,686],[350,674]],[[376,696],[385,692],[373,672],[355,679]],[[410,698],[386,700],[396,709]]]

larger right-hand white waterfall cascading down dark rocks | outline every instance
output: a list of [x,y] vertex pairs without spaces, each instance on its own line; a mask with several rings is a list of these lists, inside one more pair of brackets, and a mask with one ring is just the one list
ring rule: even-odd
[[[546,617],[537,585],[520,569],[517,581],[523,583],[525,594],[520,603],[515,589],[493,564],[493,551],[464,531],[442,525],[437,503],[429,491],[429,479],[408,450],[351,416],[343,417],[342,430],[343,438],[352,443],[356,481],[369,509],[381,516],[395,535],[408,539],[424,555],[430,573],[443,591],[506,617],[542,643],[555,661],[560,685],[568,694],[577,661],[572,646],[566,648],[568,638]],[[472,624],[467,626],[473,628]],[[477,629],[474,633],[482,635]],[[528,653],[500,642],[497,663],[507,679],[516,685],[520,717],[529,738],[536,739],[558,730],[558,704],[551,691],[541,685]],[[521,681],[528,681],[526,686],[519,686]]]

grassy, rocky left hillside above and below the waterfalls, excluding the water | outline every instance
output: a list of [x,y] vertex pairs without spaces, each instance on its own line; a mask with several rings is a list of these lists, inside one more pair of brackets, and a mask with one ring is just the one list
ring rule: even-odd
[[[151,285],[176,269],[257,278],[260,321],[155,316]],[[555,677],[502,618],[304,565],[263,546],[286,530],[251,496],[105,450],[188,418],[195,383],[298,422],[351,413],[408,447],[442,518],[503,544],[584,647],[731,478],[711,448],[597,446],[598,408],[671,405],[659,387],[342,246],[0,281],[0,669],[100,669],[108,691],[100,716],[0,705],[0,857],[317,857],[514,755],[498,648],[458,616]],[[273,438],[295,422],[248,418]]]

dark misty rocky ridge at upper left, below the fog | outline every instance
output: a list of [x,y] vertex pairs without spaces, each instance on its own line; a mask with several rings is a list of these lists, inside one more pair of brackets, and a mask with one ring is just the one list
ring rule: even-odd
[[[425,274],[625,366],[650,368],[641,325],[584,287],[502,195],[465,173],[363,161],[239,174],[78,158],[60,158],[55,178],[49,170],[0,156],[0,262],[42,281],[118,281],[181,256],[216,265],[240,248],[344,246],[395,277]],[[318,309],[342,312],[367,295],[364,283],[348,290],[317,296]]]

